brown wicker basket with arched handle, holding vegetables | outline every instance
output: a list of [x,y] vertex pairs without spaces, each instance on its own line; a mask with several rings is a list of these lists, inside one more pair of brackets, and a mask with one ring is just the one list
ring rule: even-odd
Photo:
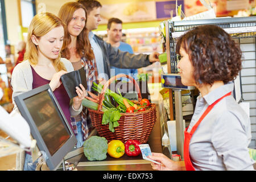
[[110,140],[121,140],[125,143],[129,139],[137,139],[141,143],[147,143],[148,137],[156,122],[156,108],[155,104],[150,104],[150,109],[145,111],[139,111],[136,113],[121,113],[121,118],[118,123],[119,126],[115,127],[115,132],[112,133],[109,130],[109,125],[102,125],[102,117],[104,112],[102,111],[102,101],[104,100],[104,94],[108,89],[110,83],[117,78],[126,77],[133,81],[133,84],[138,93],[138,101],[133,101],[138,104],[141,100],[141,90],[137,82],[128,75],[117,75],[110,78],[104,85],[100,93],[100,100],[98,102],[98,110],[88,109],[90,117],[92,119],[92,125],[96,128],[100,137],[105,137],[109,142]]

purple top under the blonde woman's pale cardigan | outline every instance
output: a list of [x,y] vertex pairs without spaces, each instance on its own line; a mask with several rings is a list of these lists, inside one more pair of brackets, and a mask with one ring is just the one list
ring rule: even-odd
[[[40,77],[38,75],[38,73],[35,72],[33,67],[31,67],[31,69],[32,69],[32,75],[33,75],[32,89],[37,88],[42,85],[49,84],[50,80],[46,80],[46,79]],[[65,117],[67,118],[69,126],[72,129],[71,118],[70,118],[71,115],[70,115],[70,111],[69,111],[70,98],[69,98],[68,93],[66,92],[63,84],[61,84],[59,86],[59,88],[55,89],[53,91],[53,94],[55,95],[57,101],[59,102],[59,105],[60,105]]]

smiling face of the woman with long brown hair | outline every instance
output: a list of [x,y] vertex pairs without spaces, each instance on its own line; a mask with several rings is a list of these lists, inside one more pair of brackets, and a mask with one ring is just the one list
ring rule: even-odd
[[78,9],[74,12],[71,21],[68,23],[68,32],[72,36],[79,36],[85,27],[85,11]]

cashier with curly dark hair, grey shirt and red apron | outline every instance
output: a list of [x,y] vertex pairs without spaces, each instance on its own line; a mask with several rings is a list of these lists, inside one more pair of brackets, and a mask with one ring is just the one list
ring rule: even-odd
[[176,44],[183,85],[200,91],[190,125],[184,131],[184,161],[152,153],[156,170],[254,170],[248,146],[250,118],[232,96],[241,70],[241,50],[222,28],[199,26]]

